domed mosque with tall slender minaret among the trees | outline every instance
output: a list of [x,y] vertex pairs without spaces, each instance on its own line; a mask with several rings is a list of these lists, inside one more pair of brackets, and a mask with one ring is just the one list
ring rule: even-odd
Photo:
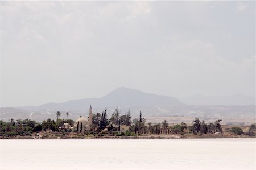
[[80,117],[76,119],[75,125],[74,125],[74,130],[76,132],[84,132],[84,131],[89,131],[92,128],[92,105],[90,105],[89,109],[89,120],[85,117]]

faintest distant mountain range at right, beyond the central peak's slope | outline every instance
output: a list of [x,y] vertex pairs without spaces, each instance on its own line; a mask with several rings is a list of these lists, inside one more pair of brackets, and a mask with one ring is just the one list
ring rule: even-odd
[[179,98],[180,101],[188,105],[254,105],[255,97],[245,96],[243,94],[234,94],[232,96],[204,96],[196,94],[190,97]]

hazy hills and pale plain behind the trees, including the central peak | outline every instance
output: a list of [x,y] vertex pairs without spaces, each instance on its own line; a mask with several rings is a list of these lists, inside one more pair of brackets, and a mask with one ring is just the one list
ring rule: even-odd
[[[205,98],[205,100],[208,99]],[[43,121],[48,118],[56,119],[56,111],[61,111],[60,118],[65,118],[65,113],[68,111],[70,113],[69,118],[75,120],[80,115],[88,116],[90,105],[93,107],[93,113],[101,113],[107,109],[109,117],[114,109],[119,106],[122,114],[130,110],[131,116],[137,118],[139,111],[142,111],[143,117],[150,121],[154,121],[156,118],[169,118],[168,120],[171,121],[175,117],[176,122],[181,122],[189,117],[189,121],[193,118],[201,118],[208,121],[224,119],[226,122],[236,122],[238,119],[240,122],[247,124],[255,122],[255,105],[225,106],[202,105],[202,103],[200,105],[187,105],[187,103],[185,104],[173,97],[144,93],[123,87],[115,89],[101,98],[85,98],[64,103],[46,103],[40,106],[3,107],[0,109],[0,119],[8,121],[11,118],[30,118]]]

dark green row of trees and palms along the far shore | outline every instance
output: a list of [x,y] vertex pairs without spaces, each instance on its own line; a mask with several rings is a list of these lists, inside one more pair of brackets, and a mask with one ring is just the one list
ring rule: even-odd
[[[72,132],[71,129],[64,129],[64,123],[69,123],[69,125],[74,126],[74,121],[68,119],[69,113],[66,114],[66,119],[60,119],[60,111],[56,112],[56,121],[53,119],[44,120],[42,123],[36,123],[30,119],[18,119],[14,122],[14,119],[11,119],[10,122],[0,121],[0,136],[31,136],[33,132]],[[222,120],[218,119],[217,121],[205,123],[204,120],[196,118],[193,120],[192,124],[188,126],[186,123],[181,122],[181,124],[170,126],[169,123],[164,120],[162,123],[146,123],[146,119],[142,117],[142,112],[140,111],[138,118],[134,118],[131,121],[130,110],[125,114],[121,114],[119,107],[114,110],[110,118],[108,119],[108,113],[105,109],[102,113],[93,114],[92,118],[92,129],[93,133],[100,133],[102,130],[105,130],[110,123],[113,123],[115,127],[120,127],[121,125],[129,126],[129,130],[125,134],[133,135],[146,135],[146,134],[181,134],[193,133],[197,134],[222,134]],[[240,127],[226,128],[225,131],[232,132],[235,135],[249,135],[255,136],[255,123],[252,124],[249,128],[249,131],[243,132]],[[119,129],[120,130],[120,129]],[[108,127],[108,131],[119,131],[118,128]],[[123,133],[123,132],[122,132]]]

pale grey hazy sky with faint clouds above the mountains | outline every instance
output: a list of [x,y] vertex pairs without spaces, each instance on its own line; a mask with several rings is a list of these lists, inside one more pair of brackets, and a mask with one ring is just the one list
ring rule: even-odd
[[0,2],[0,107],[255,94],[255,2]]

